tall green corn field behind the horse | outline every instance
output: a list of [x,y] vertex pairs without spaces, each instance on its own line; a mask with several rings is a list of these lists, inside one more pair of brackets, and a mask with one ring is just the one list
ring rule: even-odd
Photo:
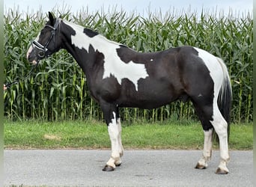
[[[112,10],[108,13],[55,11],[71,22],[92,28],[109,40],[123,43],[139,52],[155,52],[176,46],[196,46],[221,57],[228,66],[233,89],[233,122],[252,121],[252,13],[239,18],[217,13],[136,13]],[[47,14],[4,13],[5,82],[21,79],[4,92],[4,115],[12,120],[102,120],[99,105],[88,91],[86,77],[66,51],[40,61],[31,70],[26,52],[31,40],[43,28]],[[121,108],[123,120],[194,120],[191,102],[171,102],[153,110]]]

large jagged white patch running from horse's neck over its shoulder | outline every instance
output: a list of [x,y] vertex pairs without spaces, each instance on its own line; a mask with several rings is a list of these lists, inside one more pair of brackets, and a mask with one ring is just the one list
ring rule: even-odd
[[67,21],[64,21],[64,23],[70,25],[76,31],[76,35],[71,36],[71,42],[74,46],[88,51],[91,44],[95,50],[103,53],[105,57],[103,79],[115,76],[120,85],[122,79],[129,79],[135,85],[135,90],[138,91],[138,80],[145,79],[148,76],[144,64],[121,61],[117,53],[120,43],[108,40],[100,34],[88,37],[82,26]]

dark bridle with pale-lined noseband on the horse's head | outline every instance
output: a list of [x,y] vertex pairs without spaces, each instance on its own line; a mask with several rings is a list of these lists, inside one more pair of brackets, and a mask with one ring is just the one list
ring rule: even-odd
[[45,46],[43,46],[41,43],[38,43],[35,40],[31,43],[33,48],[36,47],[37,49],[39,49],[39,52],[37,54],[38,57],[40,57],[40,58],[49,57],[49,55],[46,56],[46,52],[48,51],[47,47],[49,45],[49,42],[52,40],[52,38],[53,38],[53,42],[55,43],[55,31],[57,30],[58,25],[59,25],[58,20],[56,20],[55,25],[53,27],[51,25],[45,25],[45,27],[52,28],[52,34],[49,37],[49,39],[47,40],[47,43]]

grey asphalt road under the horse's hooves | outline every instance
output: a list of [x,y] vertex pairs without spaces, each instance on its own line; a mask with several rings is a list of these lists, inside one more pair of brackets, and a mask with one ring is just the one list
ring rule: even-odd
[[253,186],[252,151],[231,151],[227,175],[195,169],[199,150],[126,150],[123,163],[102,171],[110,150],[4,150],[4,186]]

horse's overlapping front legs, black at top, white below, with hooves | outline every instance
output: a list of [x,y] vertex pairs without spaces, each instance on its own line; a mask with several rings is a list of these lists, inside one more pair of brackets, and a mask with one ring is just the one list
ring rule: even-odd
[[116,166],[121,165],[121,156],[124,149],[121,143],[121,123],[118,116],[118,108],[103,110],[108,126],[109,138],[111,141],[112,153],[103,171],[114,171]]

